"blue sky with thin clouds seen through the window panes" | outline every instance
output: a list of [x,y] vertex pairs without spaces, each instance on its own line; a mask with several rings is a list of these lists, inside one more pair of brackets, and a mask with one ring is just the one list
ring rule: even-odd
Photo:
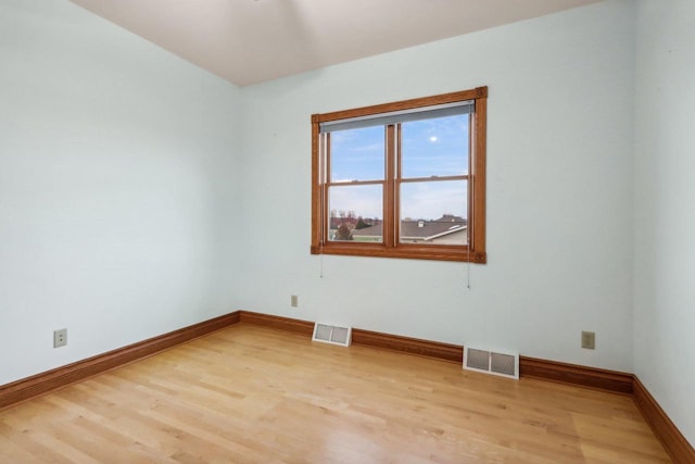
[[[460,175],[468,172],[468,115],[402,125],[403,177]],[[384,176],[384,128],[331,133],[331,180],[378,180]],[[442,214],[466,217],[466,181],[403,184],[402,218],[434,220]],[[332,187],[329,209],[381,217],[381,186]]]

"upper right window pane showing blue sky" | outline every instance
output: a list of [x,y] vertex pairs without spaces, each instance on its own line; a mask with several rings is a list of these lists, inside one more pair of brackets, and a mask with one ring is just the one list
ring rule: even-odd
[[468,174],[468,114],[401,125],[402,176]]

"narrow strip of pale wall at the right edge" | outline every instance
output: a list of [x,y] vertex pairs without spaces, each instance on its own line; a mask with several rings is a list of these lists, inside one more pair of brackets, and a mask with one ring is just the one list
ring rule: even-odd
[[695,2],[637,10],[634,372],[695,444]]

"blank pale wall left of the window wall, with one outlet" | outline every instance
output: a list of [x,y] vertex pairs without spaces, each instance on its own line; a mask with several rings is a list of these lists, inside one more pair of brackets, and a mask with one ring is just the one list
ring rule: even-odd
[[0,385],[237,309],[239,90],[65,0],[0,63]]

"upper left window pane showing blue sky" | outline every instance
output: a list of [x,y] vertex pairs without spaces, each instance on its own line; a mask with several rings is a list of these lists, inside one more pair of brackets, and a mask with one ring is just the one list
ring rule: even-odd
[[383,126],[336,130],[330,142],[331,183],[383,179]]

